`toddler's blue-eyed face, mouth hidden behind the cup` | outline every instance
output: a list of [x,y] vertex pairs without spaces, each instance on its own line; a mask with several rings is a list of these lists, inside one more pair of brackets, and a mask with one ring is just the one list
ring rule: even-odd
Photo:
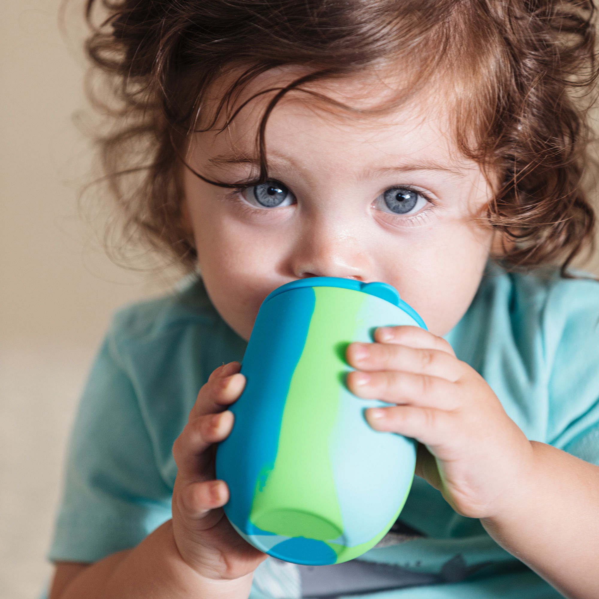
[[[323,92],[371,108],[389,93],[378,81],[328,83]],[[266,75],[245,97],[281,84],[280,72]],[[331,114],[309,98],[294,94],[268,120],[268,183],[235,191],[185,170],[187,217],[215,307],[247,340],[262,300],[283,283],[383,281],[445,334],[470,305],[492,243],[492,229],[475,220],[490,190],[455,147],[449,102],[417,96],[365,117]],[[189,164],[213,180],[255,176],[264,105],[250,102],[223,134],[197,134]]]

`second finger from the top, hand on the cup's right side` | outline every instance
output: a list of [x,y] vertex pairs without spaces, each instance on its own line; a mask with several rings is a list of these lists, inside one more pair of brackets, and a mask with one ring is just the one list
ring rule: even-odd
[[462,376],[462,362],[447,352],[428,347],[416,349],[389,343],[352,343],[347,362],[364,371],[400,370],[428,374],[455,382]]

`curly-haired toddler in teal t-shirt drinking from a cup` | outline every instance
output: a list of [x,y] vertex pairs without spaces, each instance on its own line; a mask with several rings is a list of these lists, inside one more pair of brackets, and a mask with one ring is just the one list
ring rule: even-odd
[[[599,597],[599,285],[567,270],[594,231],[591,0],[98,4],[105,171],[190,277],[98,353],[50,598]],[[429,330],[348,347],[418,477],[374,549],[304,567],[235,533],[214,448],[259,305],[315,276],[390,283]]]

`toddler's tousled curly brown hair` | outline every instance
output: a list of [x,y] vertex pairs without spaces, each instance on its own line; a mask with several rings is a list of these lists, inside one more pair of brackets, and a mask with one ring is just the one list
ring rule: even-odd
[[[95,9],[107,14],[97,26]],[[112,83],[114,125],[98,142],[128,237],[196,267],[181,154],[223,74],[237,73],[217,110],[230,122],[257,75],[282,65],[309,72],[270,90],[258,183],[268,177],[265,123],[286,93],[401,63],[415,74],[412,89],[435,76],[455,82],[459,147],[500,181],[486,219],[503,234],[503,263],[560,263],[565,273],[595,226],[582,184],[594,10],[592,0],[87,0],[92,69]]]

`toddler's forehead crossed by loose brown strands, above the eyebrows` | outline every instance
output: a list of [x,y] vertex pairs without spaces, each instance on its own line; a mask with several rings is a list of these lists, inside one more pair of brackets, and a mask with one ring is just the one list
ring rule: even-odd
[[[215,128],[203,136],[210,161],[215,165],[256,162],[256,137],[265,109],[280,89],[307,72],[283,67],[256,77],[228,111],[221,111]],[[213,87],[213,110],[228,84],[223,78]],[[473,168],[455,143],[453,105],[440,82],[429,81],[417,91],[410,77],[398,71],[381,69],[316,81],[288,92],[268,116],[268,162],[280,162],[297,152],[313,160],[336,152],[337,162],[345,157],[354,164],[358,154],[365,165],[426,158],[430,164],[443,162],[447,168]]]

